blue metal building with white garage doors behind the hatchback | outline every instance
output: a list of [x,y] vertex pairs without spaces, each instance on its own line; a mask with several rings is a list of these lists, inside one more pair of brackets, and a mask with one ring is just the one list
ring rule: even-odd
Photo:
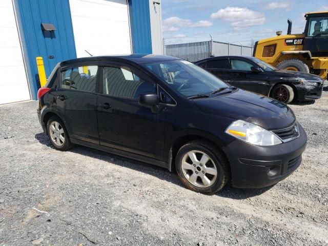
[[[160,1],[4,1],[0,16],[9,11],[4,16],[10,20],[9,29],[4,31],[10,30],[12,43],[2,35],[0,52],[4,50],[5,59],[8,56],[12,63],[0,66],[0,73],[6,70],[9,76],[15,67],[13,71],[20,75],[13,85],[19,88],[18,96],[13,98],[9,96],[13,88],[0,82],[0,104],[36,99],[40,87],[37,56],[43,57],[48,77],[59,61],[89,56],[87,52],[92,55],[162,53],[161,31],[158,32],[161,30]],[[14,57],[13,52],[6,52],[10,47],[15,50]]]

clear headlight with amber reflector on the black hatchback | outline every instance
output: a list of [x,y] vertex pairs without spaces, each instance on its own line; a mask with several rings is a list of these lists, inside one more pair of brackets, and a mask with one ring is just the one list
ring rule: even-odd
[[241,119],[232,122],[226,133],[253,145],[272,146],[282,143],[272,132]]

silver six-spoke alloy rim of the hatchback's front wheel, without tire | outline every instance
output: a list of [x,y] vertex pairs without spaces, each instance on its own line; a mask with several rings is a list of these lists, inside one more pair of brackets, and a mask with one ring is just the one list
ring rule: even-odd
[[210,187],[217,178],[214,161],[202,151],[187,152],[181,160],[181,169],[186,179],[199,188]]

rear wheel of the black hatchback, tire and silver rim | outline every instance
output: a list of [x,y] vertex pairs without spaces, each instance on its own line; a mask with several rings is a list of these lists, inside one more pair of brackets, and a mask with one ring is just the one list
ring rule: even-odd
[[73,147],[64,122],[59,117],[51,116],[47,122],[47,132],[52,146],[61,151]]

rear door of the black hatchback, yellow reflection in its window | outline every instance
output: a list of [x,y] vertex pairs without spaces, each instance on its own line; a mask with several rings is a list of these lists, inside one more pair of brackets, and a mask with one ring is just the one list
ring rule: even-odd
[[54,103],[70,137],[99,144],[97,128],[98,66],[79,64],[61,69]]

